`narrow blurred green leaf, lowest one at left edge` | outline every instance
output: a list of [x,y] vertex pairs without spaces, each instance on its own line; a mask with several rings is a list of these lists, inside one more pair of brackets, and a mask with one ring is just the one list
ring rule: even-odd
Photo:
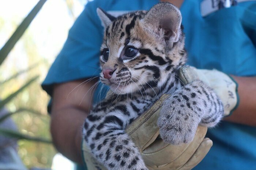
[[5,137],[10,137],[10,138],[16,138],[16,139],[24,139],[24,140],[33,141],[33,142],[43,142],[43,143],[49,143],[49,144],[52,143],[52,141],[50,141],[49,139],[31,137],[30,135],[22,134],[14,130],[3,129],[3,128],[0,128],[0,135],[3,135]]

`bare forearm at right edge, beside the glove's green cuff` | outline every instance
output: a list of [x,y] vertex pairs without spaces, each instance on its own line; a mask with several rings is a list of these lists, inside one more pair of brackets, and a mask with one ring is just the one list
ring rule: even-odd
[[232,77],[238,83],[240,103],[233,114],[224,120],[256,126],[256,77]]

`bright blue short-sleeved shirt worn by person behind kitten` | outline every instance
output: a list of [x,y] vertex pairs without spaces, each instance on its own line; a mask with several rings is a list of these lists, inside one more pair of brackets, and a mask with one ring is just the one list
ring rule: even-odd
[[[135,11],[148,10],[156,3],[158,0],[89,2],[70,29],[63,49],[42,83],[44,90],[52,95],[54,83],[99,75],[103,27],[96,13],[97,7],[105,11]],[[256,2],[239,3],[205,17],[201,16],[200,3],[201,0],[185,0],[181,6],[188,64],[197,68],[216,68],[236,76],[256,76]],[[99,93],[101,86],[103,90]],[[94,102],[101,100],[106,90],[105,86],[99,85]],[[214,145],[195,170],[256,169],[255,127],[223,121],[209,129],[207,137]]]

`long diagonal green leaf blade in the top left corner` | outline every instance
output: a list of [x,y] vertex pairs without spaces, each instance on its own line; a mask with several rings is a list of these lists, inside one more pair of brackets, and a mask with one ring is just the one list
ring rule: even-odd
[[19,25],[16,31],[12,34],[10,39],[4,44],[3,48],[0,50],[0,65],[3,63],[4,59],[7,57],[9,52],[12,50],[12,48],[15,46],[17,41],[26,31],[27,27],[29,27],[29,24],[37,15],[37,13],[40,11],[40,9],[42,8],[45,2],[46,0],[39,0],[39,2],[35,5],[35,7],[30,11],[30,13],[22,21],[22,23]]

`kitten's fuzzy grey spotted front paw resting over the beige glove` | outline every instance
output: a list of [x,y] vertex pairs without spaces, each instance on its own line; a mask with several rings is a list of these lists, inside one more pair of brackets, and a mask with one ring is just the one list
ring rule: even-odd
[[158,126],[161,138],[166,143],[189,143],[195,136],[199,121],[184,104],[172,97],[163,103]]

